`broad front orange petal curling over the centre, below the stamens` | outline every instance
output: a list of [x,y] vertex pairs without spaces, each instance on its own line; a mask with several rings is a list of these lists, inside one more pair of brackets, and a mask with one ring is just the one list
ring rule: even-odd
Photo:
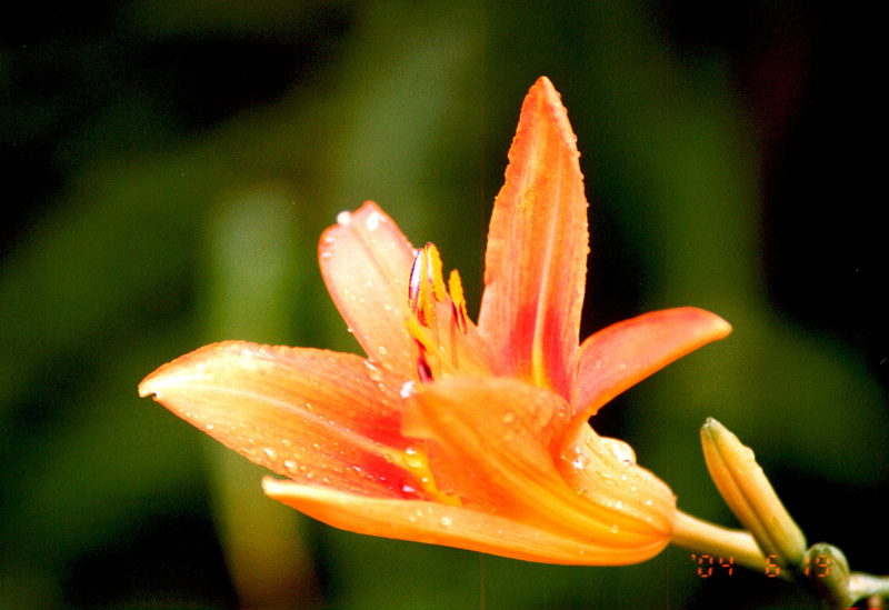
[[[640,512],[638,506],[615,501],[630,498],[631,480],[626,482],[626,494],[612,493],[605,483],[600,493],[585,494],[562,478],[563,458],[556,442],[569,407],[555,392],[510,378],[450,378],[423,386],[413,400],[417,411],[406,412],[402,432],[434,441],[427,446],[430,467],[442,487],[446,480],[462,482],[462,488],[447,491],[459,496],[463,506],[491,506],[499,516],[613,549],[616,556],[635,551],[637,561],[667,544],[671,507],[658,504]],[[439,447],[472,479],[448,477],[442,471],[447,461],[436,456]],[[602,443],[596,448],[607,449]],[[612,461],[621,473],[627,468]],[[481,501],[473,497],[477,490],[483,492]]]

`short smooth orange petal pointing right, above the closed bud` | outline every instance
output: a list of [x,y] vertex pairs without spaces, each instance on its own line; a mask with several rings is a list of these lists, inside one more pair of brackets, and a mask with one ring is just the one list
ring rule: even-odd
[[589,419],[627,388],[729,332],[731,327],[719,316],[683,307],[646,313],[591,334],[578,352],[575,413]]

